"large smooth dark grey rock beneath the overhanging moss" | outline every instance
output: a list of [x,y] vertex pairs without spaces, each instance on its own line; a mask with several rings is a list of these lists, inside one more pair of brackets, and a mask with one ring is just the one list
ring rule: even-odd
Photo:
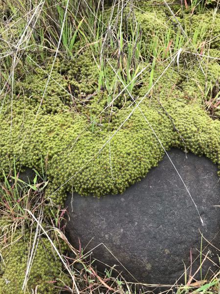
[[[219,205],[220,196],[217,167],[205,157],[194,154],[186,157],[177,149],[171,150],[169,155],[198,206],[204,226],[165,155],[158,167],[122,195],[100,199],[77,194],[68,196],[66,206],[70,220],[66,223],[66,235],[75,247],[79,248],[80,239],[86,252],[92,250],[91,257],[101,261],[96,261],[98,270],[104,271],[116,264],[116,269],[123,270],[123,275],[130,280],[174,284],[184,272],[184,263],[190,266],[191,250],[192,273],[198,269],[200,232],[220,247],[220,210],[214,206]],[[203,239],[202,249],[204,255],[210,250],[208,256],[218,264],[219,252],[215,247]],[[215,270],[206,259],[202,278],[207,271],[211,274],[209,267]],[[184,275],[179,282],[183,281]]]

